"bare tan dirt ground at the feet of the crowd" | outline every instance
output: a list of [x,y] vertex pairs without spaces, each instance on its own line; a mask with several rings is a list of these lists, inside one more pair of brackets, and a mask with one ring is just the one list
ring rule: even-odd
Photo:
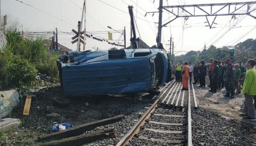
[[[225,88],[217,90],[217,93],[209,92],[209,87],[194,85],[194,88],[198,99],[198,107],[217,112],[220,115],[225,115],[235,120],[244,121],[239,116],[244,107],[244,96],[242,94],[235,95],[235,98],[229,98],[223,96],[226,94]],[[256,123],[253,122],[252,124]]]

